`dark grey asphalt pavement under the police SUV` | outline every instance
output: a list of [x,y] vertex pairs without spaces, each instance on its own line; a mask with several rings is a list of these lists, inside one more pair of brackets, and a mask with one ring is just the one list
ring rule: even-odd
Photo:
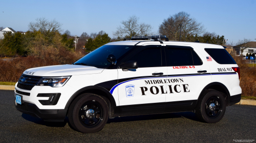
[[233,105],[216,124],[199,122],[193,112],[109,119],[91,134],[68,124],[44,122],[15,109],[14,91],[0,90],[0,142],[255,142],[256,106]]

